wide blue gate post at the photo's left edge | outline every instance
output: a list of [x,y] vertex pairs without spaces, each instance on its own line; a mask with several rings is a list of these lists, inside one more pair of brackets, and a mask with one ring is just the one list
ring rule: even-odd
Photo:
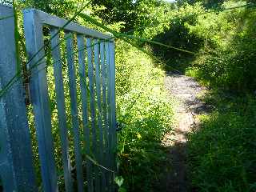
[[[0,18],[0,178],[3,191],[32,192],[37,188],[22,78],[16,69],[13,9],[0,5]],[[5,90],[9,82],[14,83]]]

